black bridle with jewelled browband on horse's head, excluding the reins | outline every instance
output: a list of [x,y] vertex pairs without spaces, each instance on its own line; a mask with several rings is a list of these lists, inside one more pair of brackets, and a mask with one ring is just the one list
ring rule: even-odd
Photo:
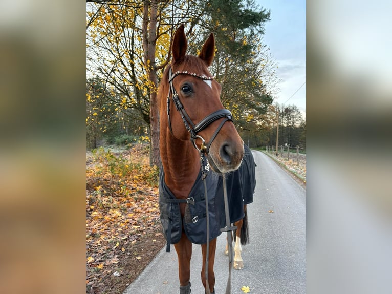
[[[177,94],[176,89],[173,86],[173,79],[179,75],[190,75],[193,77],[200,78],[202,80],[212,80],[213,77],[208,77],[205,75],[198,75],[198,74],[191,73],[188,71],[177,71],[173,74],[171,71],[171,68],[169,69],[170,90],[169,90],[169,94],[167,95],[167,122],[169,125],[170,133],[173,134],[173,131],[171,129],[171,122],[170,122],[170,94],[171,94],[171,98],[172,98],[177,110],[181,114],[182,121],[184,122],[185,128],[188,130],[188,132],[190,134],[190,140],[192,141],[194,147],[200,151],[208,153],[208,150],[211,146],[212,141],[215,139],[216,135],[219,133],[219,131],[223,127],[223,124],[228,120],[232,121],[232,114],[228,109],[220,109],[220,110],[217,110],[217,111],[207,115],[199,123],[194,124],[192,122],[192,120],[190,119],[189,115],[187,114],[187,112],[185,111],[184,106],[180,101],[180,97]],[[215,130],[215,133],[212,135],[210,141],[207,144],[205,144],[205,140],[203,139],[203,137],[199,136],[198,133],[203,131],[205,128],[207,128],[208,125],[210,125],[212,122],[214,122],[215,120],[220,119],[220,118],[225,118],[225,119],[222,120],[219,127]],[[200,148],[195,143],[196,139],[202,140],[202,144],[201,144]]]

